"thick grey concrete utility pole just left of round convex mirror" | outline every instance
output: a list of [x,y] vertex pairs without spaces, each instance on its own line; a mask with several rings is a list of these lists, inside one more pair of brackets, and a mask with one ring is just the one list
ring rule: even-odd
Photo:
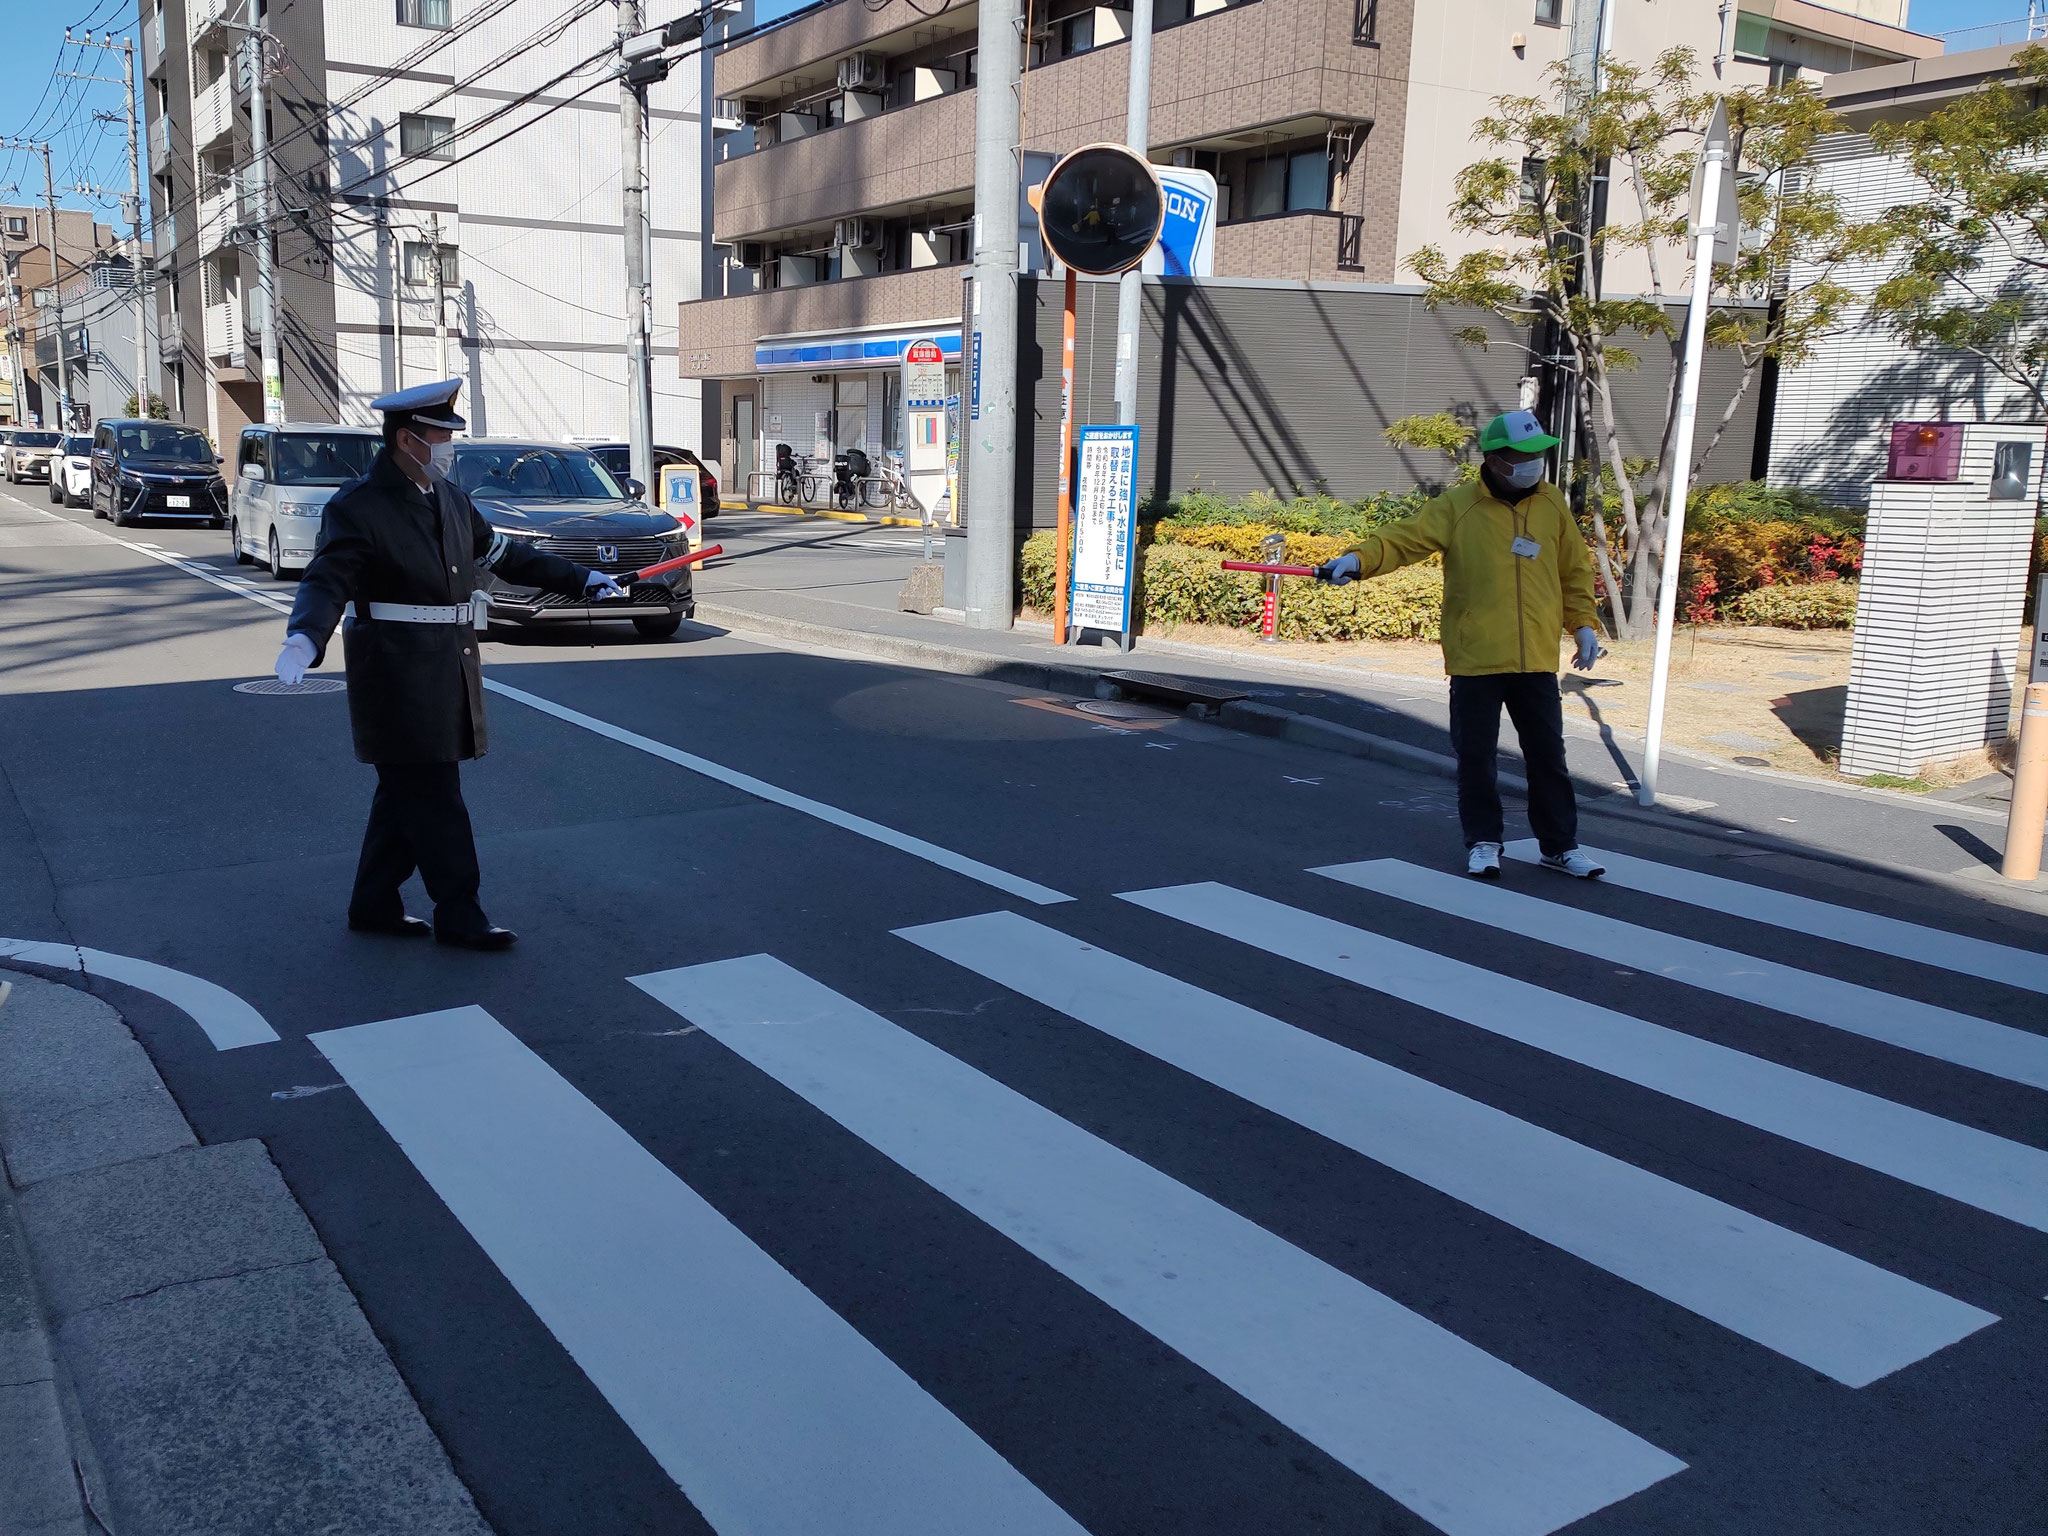
[[981,0],[975,47],[975,299],[967,377],[967,623],[1010,629],[1018,461],[1018,0]]

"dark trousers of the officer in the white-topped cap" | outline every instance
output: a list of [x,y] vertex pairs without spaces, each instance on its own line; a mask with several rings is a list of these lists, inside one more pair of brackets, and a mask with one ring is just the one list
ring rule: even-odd
[[406,903],[397,889],[414,870],[434,899],[434,928],[475,934],[489,926],[477,905],[477,842],[463,805],[463,770],[455,762],[381,762],[371,823],[362,829],[362,858],[348,918],[362,924],[397,922]]

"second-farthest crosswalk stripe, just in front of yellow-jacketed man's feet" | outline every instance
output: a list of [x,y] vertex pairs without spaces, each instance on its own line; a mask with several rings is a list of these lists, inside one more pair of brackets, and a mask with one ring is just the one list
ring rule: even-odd
[[1860,987],[1853,981],[1800,971],[1778,961],[1724,950],[1698,938],[1638,928],[1597,911],[1561,907],[1520,891],[1481,885],[1462,874],[1407,864],[1399,858],[1368,858],[1358,864],[1327,864],[1313,870],[1333,881],[1413,901],[1475,924],[1487,924],[1542,944],[1597,954],[1651,975],[1683,981],[1702,991],[1718,991],[1780,1014],[1896,1044],[1937,1061],[2005,1077],[2028,1087],[2048,1087],[2048,1034],[2015,1030],[1987,1018],[1935,1008],[1913,997]]

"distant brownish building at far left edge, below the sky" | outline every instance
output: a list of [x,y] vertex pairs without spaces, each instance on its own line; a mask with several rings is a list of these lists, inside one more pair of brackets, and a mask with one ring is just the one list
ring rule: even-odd
[[[51,242],[49,209],[41,203],[0,205],[0,322],[6,324],[6,381],[0,387],[0,422],[55,422],[57,395],[57,311],[59,291],[51,283],[55,270],[63,279],[63,299],[72,313],[66,322],[76,330],[80,311],[74,289],[96,281],[113,285],[115,268],[127,272],[127,242],[111,225],[86,209],[57,209],[55,242]],[[55,252],[55,256],[53,256]],[[47,352],[49,367],[39,365]],[[14,383],[20,381],[16,391]],[[20,395],[16,406],[16,393]]]

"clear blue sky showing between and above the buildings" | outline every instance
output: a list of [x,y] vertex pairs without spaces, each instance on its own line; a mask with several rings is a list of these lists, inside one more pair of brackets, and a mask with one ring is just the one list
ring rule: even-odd
[[[684,8],[686,0],[664,6],[664,0],[649,4],[649,14]],[[760,0],[756,16],[762,20],[795,10],[805,0]],[[2025,14],[2025,0],[1913,0],[1911,25],[1921,33],[1946,33],[1960,27],[1982,27],[2011,20]],[[74,33],[100,33],[113,29],[115,35],[135,33],[135,0],[0,0],[0,29],[6,45],[0,47],[0,135],[51,139],[55,143],[55,170],[59,201],[66,207],[88,207],[82,199],[63,188],[76,182],[100,186],[127,186],[127,141],[119,123],[94,123],[94,111],[121,111],[119,86],[84,84],[78,80],[53,78],[57,70],[78,70],[80,74],[111,74],[117,59],[98,49],[80,53],[63,45],[63,29]],[[0,186],[16,182],[16,193],[6,193],[8,203],[43,195],[43,166],[39,156],[0,150]],[[102,217],[117,221],[117,213],[98,203]]]

